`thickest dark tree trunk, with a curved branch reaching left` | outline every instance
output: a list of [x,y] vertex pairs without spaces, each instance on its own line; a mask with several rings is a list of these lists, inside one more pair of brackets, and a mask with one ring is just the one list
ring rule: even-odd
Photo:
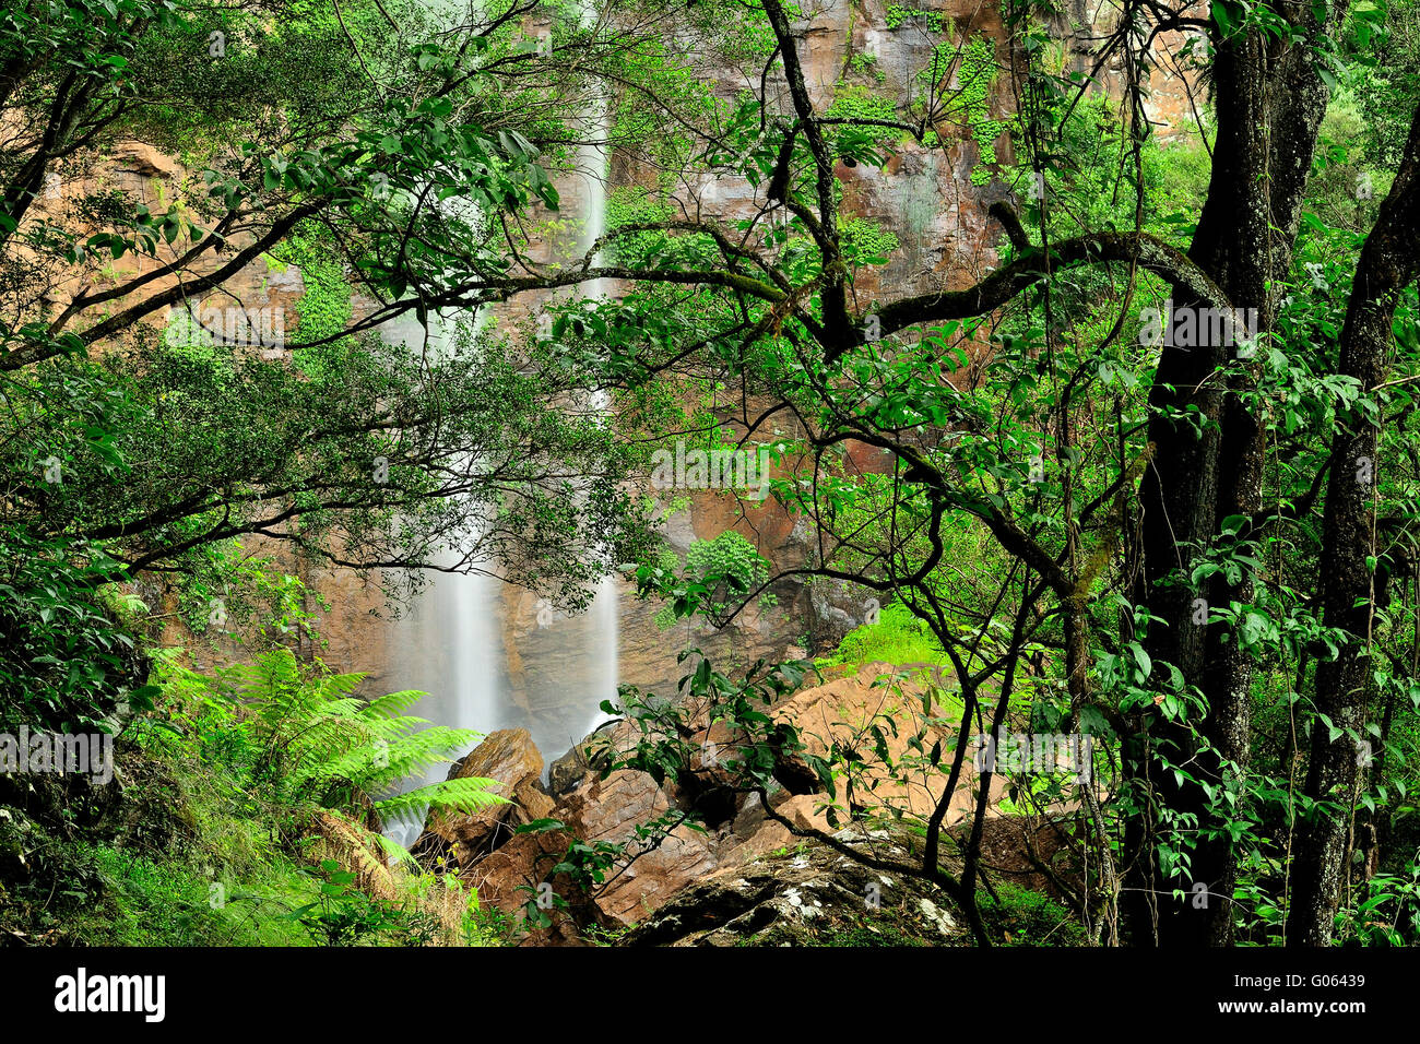
[[[1302,17],[1302,16],[1296,16]],[[1284,276],[1301,222],[1301,199],[1311,170],[1326,88],[1305,44],[1284,47],[1244,36],[1217,45],[1213,65],[1218,136],[1208,197],[1189,256],[1237,308],[1257,310],[1258,327],[1272,321],[1269,284]],[[1177,291],[1176,291],[1177,293]],[[1237,392],[1254,376],[1235,371],[1228,385],[1216,369],[1235,344],[1164,347],[1150,393],[1149,439],[1153,464],[1140,483],[1142,568],[1136,601],[1163,624],[1150,626],[1146,648],[1159,666],[1172,663],[1207,700],[1201,722],[1169,723],[1143,713],[1126,743],[1126,773],[1149,805],[1126,825],[1126,910],[1139,943],[1164,946],[1228,945],[1228,905],[1235,858],[1221,824],[1208,812],[1201,787],[1160,773],[1154,754],[1174,764],[1193,760],[1196,776],[1221,783],[1227,763],[1248,763],[1250,663],[1220,625],[1197,624],[1208,607],[1252,601],[1252,577],[1221,578],[1194,589],[1190,550],[1213,543],[1228,516],[1254,516],[1261,507],[1262,429]],[[1174,420],[1193,406],[1204,423]],[[1203,599],[1198,602],[1197,599]],[[1157,678],[1159,675],[1156,675]],[[1200,757],[1196,726],[1204,746]],[[1169,879],[1156,855],[1157,812],[1198,817],[1187,881]],[[1198,902],[1193,888],[1206,888]],[[1172,898],[1174,888],[1189,895]]]

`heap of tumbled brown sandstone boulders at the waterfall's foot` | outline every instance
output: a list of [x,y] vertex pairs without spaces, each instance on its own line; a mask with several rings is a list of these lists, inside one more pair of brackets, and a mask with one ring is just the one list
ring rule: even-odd
[[[930,746],[936,740],[946,740],[949,730],[940,722],[926,722],[922,717],[924,680],[875,685],[880,676],[895,672],[890,665],[869,665],[856,673],[791,696],[774,713],[780,720],[795,723],[809,750],[819,756],[826,754],[834,743],[852,746],[866,736],[869,724],[878,722],[883,726],[889,756],[910,766],[902,771],[903,778],[890,778],[875,768],[870,764],[875,754],[870,749],[865,750],[868,771],[858,780],[855,807],[852,810],[843,807],[846,791],[841,788],[839,803],[834,805],[831,817],[826,794],[821,793],[816,776],[804,766],[799,780],[802,790],[780,787],[768,794],[768,805],[775,815],[799,830],[824,834],[838,831],[841,838],[866,839],[878,851],[883,845],[889,848],[897,845],[896,841],[885,839],[892,837],[892,831],[900,830],[893,827],[885,831],[879,817],[896,810],[920,821],[932,814],[947,774],[940,764],[936,767],[927,764],[920,753],[916,754],[919,764],[912,766],[916,749],[909,739],[919,736],[924,746]],[[937,699],[944,697],[939,695]],[[941,713],[943,707],[934,710]],[[888,727],[889,720],[892,727]],[[608,733],[605,739],[625,746],[639,736],[639,729],[635,723],[622,722]],[[700,776],[713,780],[716,774],[716,766],[706,751],[711,747],[730,750],[736,739],[723,723],[716,723],[713,727],[701,723],[699,730],[692,733],[692,741],[701,750],[701,757],[696,761],[701,770]],[[663,814],[674,814],[677,808],[690,808],[697,797],[706,797],[696,790],[697,787],[703,790],[703,785],[693,785],[690,780],[682,780],[679,787],[669,783],[657,784],[646,773],[630,770],[618,770],[606,778],[596,778],[586,774],[591,757],[585,747],[585,743],[579,744],[559,758],[564,768],[554,773],[552,790],[558,794],[555,801],[545,797],[545,793],[535,785],[535,777],[525,778],[523,785],[515,788],[515,795],[525,807],[525,818],[521,821],[555,818],[567,825],[567,832],[515,835],[471,868],[464,864],[462,875],[479,888],[483,902],[518,918],[537,888],[547,881],[551,868],[562,858],[572,837],[594,845],[623,844],[629,847],[629,854],[639,852],[639,855],[630,861],[618,859],[606,874],[605,886],[594,889],[591,895],[575,888],[571,881],[552,879],[555,895],[561,896],[572,912],[559,910],[552,928],[538,929],[527,935],[524,942],[535,939],[545,945],[574,943],[589,925],[669,923],[659,916],[660,908],[682,902],[682,893],[687,889],[696,892],[700,888],[697,882],[706,878],[721,883],[710,888],[704,893],[709,898],[703,901],[728,913],[714,922],[713,929],[682,932],[683,925],[674,930],[656,929],[670,932],[670,942],[728,943],[744,937],[747,932],[757,939],[764,935],[771,940],[804,942],[805,923],[821,913],[826,918],[825,923],[834,925],[831,932],[851,932],[856,933],[853,937],[862,939],[883,933],[882,942],[902,942],[893,935],[902,933],[916,942],[949,942],[960,935],[956,915],[936,889],[917,888],[905,892],[902,901],[892,908],[892,923],[868,923],[862,918],[853,920],[849,916],[845,898],[848,886],[843,882],[834,883],[822,874],[812,881],[797,876],[804,869],[805,854],[821,849],[822,845],[767,818],[767,810],[758,795],[740,795],[723,810],[723,814],[697,808],[711,825],[709,832],[679,825],[663,842],[642,852],[638,848],[640,844],[636,838],[638,827]],[[479,760],[479,763],[494,761],[500,758],[486,756]],[[946,820],[949,828],[966,820],[973,803],[971,778],[971,773],[967,771],[958,783]],[[572,788],[565,790],[568,785]],[[1000,788],[1001,783],[995,781],[994,793],[998,794]],[[861,818],[852,820],[851,812],[856,812]],[[994,811],[991,814],[995,815]],[[716,824],[720,824],[719,828]],[[845,825],[849,830],[841,831],[839,828]],[[760,864],[768,861],[778,865],[784,858],[797,862],[790,864],[787,878],[774,871],[771,876],[777,883],[768,888],[763,879],[765,871]],[[903,859],[910,862],[906,854]],[[809,865],[816,864],[811,859]],[[853,876],[858,871],[846,868],[845,864],[834,864],[834,872],[846,875],[845,881],[849,885],[866,886],[866,879],[858,881]],[[741,883],[723,883],[730,876]],[[741,886],[743,881],[751,883]],[[858,910],[863,909],[861,895],[859,889],[855,893]],[[824,913],[834,909],[838,912]],[[656,933],[646,937],[662,940]]]

